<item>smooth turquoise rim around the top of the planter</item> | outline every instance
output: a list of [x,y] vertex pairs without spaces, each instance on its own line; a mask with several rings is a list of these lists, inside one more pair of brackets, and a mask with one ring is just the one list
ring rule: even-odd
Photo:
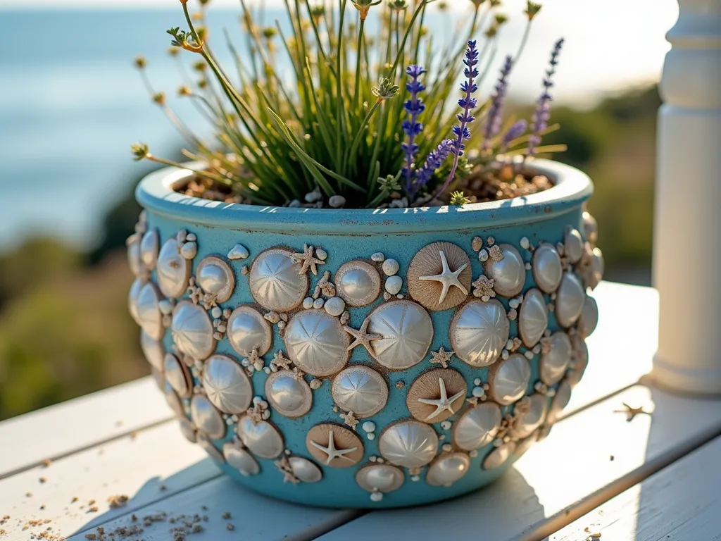
[[164,167],[141,180],[138,203],[156,214],[194,224],[278,233],[371,234],[418,231],[458,231],[523,224],[564,214],[577,208],[593,193],[588,175],[575,167],[547,159],[529,161],[534,172],[555,185],[525,197],[471,203],[462,207],[419,208],[289,208],[210,201],[183,195],[172,188],[203,167]]

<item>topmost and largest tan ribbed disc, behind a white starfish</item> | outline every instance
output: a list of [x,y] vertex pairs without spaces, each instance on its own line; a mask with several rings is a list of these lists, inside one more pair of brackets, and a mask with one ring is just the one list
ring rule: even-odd
[[[421,276],[435,276],[443,270],[441,252],[446,255],[448,268],[451,272],[457,271],[461,266],[466,265],[459,274],[459,282],[466,289],[464,293],[458,286],[451,286],[448,289],[446,298],[439,303],[443,286],[438,281],[420,280]],[[408,267],[408,294],[429,310],[447,310],[458,306],[468,298],[471,291],[472,271],[471,260],[463,248],[451,244],[451,242],[433,242],[423,247],[411,260]]]

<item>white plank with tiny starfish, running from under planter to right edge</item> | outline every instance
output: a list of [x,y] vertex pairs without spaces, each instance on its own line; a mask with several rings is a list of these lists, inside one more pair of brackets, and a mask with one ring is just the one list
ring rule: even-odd
[[[622,403],[655,413],[627,422]],[[721,434],[721,401],[636,386],[554,427],[497,483],[417,509],[373,511],[322,537],[538,540]]]

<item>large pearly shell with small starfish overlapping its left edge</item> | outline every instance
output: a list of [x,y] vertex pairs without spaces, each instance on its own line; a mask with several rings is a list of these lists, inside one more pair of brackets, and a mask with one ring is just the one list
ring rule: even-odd
[[368,333],[383,337],[371,341],[373,359],[391,370],[407,369],[423,361],[433,341],[433,322],[420,304],[387,302],[368,318]]

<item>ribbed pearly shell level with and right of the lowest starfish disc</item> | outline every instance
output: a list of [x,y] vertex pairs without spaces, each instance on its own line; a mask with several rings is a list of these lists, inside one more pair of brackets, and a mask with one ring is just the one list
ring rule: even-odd
[[418,421],[395,423],[381,434],[379,451],[384,459],[402,467],[422,467],[435,457],[438,435]]

